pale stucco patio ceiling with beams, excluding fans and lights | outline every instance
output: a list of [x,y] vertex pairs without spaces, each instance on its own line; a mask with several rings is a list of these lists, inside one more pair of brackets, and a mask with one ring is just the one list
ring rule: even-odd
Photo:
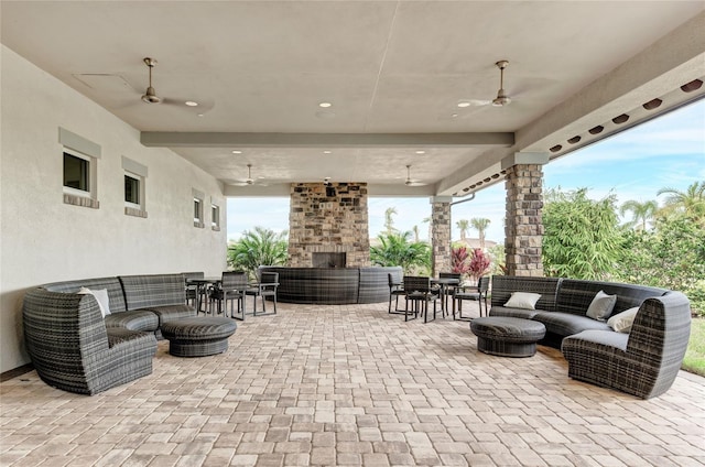
[[[232,196],[324,177],[371,194],[464,195],[517,151],[557,156],[705,93],[679,89],[705,75],[703,1],[0,6],[3,44]],[[145,56],[159,61],[156,94],[178,104],[140,100]],[[499,59],[511,105],[458,108],[496,97]],[[640,107],[657,97],[660,108]],[[630,120],[611,123],[621,113]],[[596,126],[605,131],[589,134]],[[248,163],[258,183],[230,186]],[[408,164],[426,186],[404,185]]]

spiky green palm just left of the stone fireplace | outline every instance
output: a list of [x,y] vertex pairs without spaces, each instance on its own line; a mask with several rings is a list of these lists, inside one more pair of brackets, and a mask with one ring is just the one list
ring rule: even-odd
[[260,265],[282,265],[289,259],[288,232],[276,234],[263,227],[246,230],[242,238],[228,246],[228,264],[250,276]]

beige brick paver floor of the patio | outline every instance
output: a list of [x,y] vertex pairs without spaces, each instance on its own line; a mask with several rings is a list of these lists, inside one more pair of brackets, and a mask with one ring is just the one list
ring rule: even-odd
[[649,401],[573,381],[556,349],[479,354],[468,323],[280,304],[227,352],[169,355],[95,397],[1,384],[2,466],[702,466],[705,381]]

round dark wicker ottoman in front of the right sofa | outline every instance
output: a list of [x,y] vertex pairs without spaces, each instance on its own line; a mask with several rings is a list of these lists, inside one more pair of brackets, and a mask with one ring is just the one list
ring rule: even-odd
[[543,323],[505,316],[485,316],[470,322],[477,349],[500,357],[531,357],[536,341],[546,334]]

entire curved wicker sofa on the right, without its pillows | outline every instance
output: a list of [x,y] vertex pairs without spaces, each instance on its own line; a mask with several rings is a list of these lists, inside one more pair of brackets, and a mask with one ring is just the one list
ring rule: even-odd
[[[631,330],[617,333],[586,316],[595,295],[617,295],[611,316],[638,307]],[[535,309],[506,307],[512,292],[541,295]],[[490,316],[538,321],[540,344],[562,349],[571,378],[649,399],[669,390],[687,347],[691,309],[680,292],[557,278],[492,278]]]

